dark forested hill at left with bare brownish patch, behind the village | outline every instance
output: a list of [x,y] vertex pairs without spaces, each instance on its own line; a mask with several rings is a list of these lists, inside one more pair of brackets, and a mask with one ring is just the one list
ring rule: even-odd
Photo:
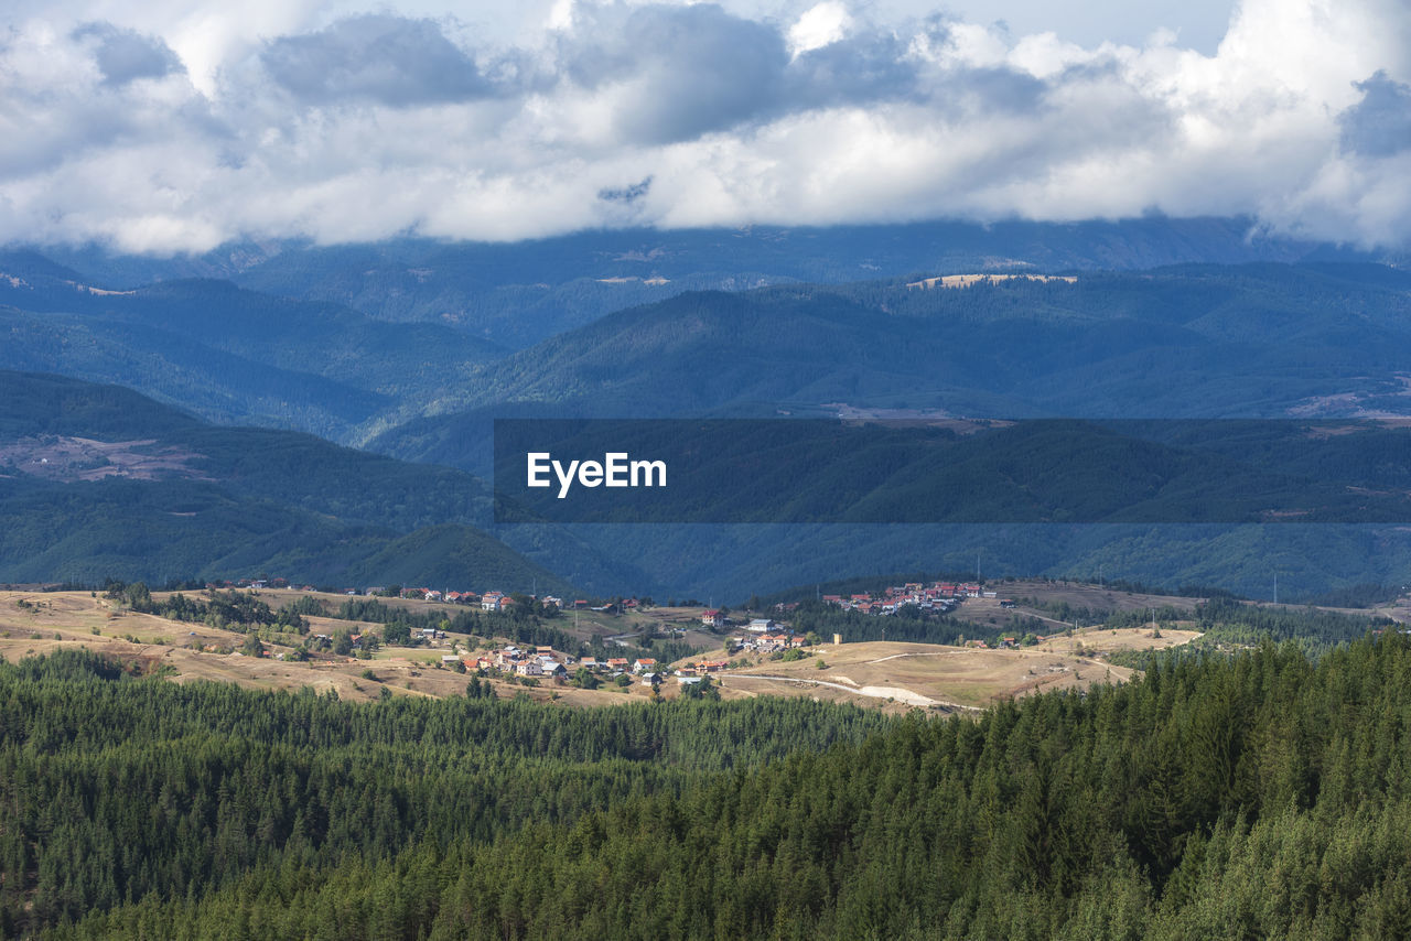
[[[312,435],[223,427],[130,389],[0,372],[0,580],[564,580],[470,522],[484,485]],[[591,570],[591,556],[580,570]]]

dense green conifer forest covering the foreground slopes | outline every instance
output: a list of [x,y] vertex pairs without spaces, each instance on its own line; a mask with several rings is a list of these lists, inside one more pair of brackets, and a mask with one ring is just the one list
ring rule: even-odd
[[878,724],[27,662],[0,667],[3,913],[56,938],[1401,937],[1408,670],[1388,632]]

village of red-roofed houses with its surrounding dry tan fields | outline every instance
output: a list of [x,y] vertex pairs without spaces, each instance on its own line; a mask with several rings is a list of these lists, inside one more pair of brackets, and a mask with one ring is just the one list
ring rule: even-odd
[[[1163,625],[1160,632],[1151,626],[1074,631],[1033,607],[1044,591],[1070,604],[1101,598],[1136,608],[1188,600],[1112,598],[1092,585],[1003,584],[1017,602],[986,591],[998,585],[927,580],[827,598],[814,591],[797,602],[797,595],[752,598],[734,609],[696,600],[658,604],[646,595],[560,602],[550,595],[399,585],[350,595],[253,578],[212,583],[206,598],[189,601],[178,595],[196,585],[168,585],[152,595],[155,608],[144,612],[121,588],[11,590],[4,597],[13,604],[0,605],[0,615],[8,618],[0,629],[0,652],[99,645],[114,656],[148,663],[143,669],[169,670],[179,681],[309,686],[351,700],[494,696],[591,707],[619,697],[809,696],[895,711],[972,708],[995,696],[1055,683],[1120,681],[1126,673],[1105,662],[1106,650],[1167,646],[1194,636],[1175,625]],[[174,600],[175,608],[166,609]],[[210,609],[195,611],[192,602]],[[257,631],[240,614],[260,608],[271,619]],[[830,608],[838,617],[830,618]],[[888,622],[914,626],[921,611],[934,618],[950,612],[952,619],[974,622],[975,632],[967,629],[950,645],[907,641],[902,632],[889,639]],[[861,626],[859,618],[879,624],[858,636],[851,632]],[[1040,633],[1040,622],[1051,628]]]

